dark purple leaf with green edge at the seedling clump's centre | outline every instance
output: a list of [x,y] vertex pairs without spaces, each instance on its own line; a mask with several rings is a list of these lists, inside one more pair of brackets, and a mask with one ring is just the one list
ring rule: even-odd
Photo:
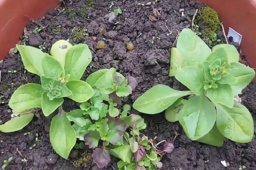
[[123,135],[126,130],[126,121],[120,118],[110,119],[108,124],[109,130],[115,130],[119,135]]

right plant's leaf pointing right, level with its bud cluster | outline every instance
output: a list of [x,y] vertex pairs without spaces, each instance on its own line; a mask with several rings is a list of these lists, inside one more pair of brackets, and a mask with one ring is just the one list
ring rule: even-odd
[[242,63],[231,63],[228,72],[236,79],[235,83],[230,83],[234,95],[240,94],[242,89],[245,88],[255,76],[255,71]]

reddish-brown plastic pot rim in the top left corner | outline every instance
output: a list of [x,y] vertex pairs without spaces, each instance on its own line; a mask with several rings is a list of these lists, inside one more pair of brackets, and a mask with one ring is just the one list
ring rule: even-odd
[[0,0],[0,60],[20,41],[24,27],[59,4],[59,0]]

